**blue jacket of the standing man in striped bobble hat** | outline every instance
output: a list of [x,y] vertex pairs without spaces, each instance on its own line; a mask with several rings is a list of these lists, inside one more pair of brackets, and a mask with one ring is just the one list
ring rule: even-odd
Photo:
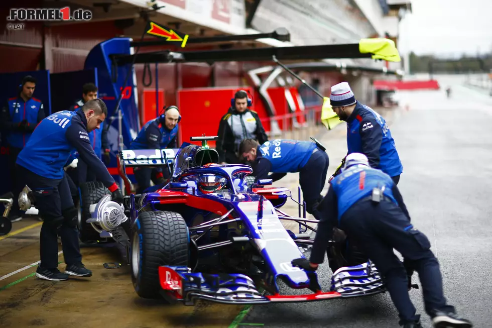
[[385,119],[358,101],[347,119],[347,148],[347,154],[364,154],[371,167],[380,169],[389,176],[403,172],[395,141]]

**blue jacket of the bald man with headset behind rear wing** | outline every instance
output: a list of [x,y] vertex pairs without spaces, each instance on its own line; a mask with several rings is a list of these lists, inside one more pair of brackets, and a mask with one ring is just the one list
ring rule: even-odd
[[177,134],[178,125],[169,131],[165,126],[159,128],[159,119],[150,120],[132,141],[130,149],[177,148]]

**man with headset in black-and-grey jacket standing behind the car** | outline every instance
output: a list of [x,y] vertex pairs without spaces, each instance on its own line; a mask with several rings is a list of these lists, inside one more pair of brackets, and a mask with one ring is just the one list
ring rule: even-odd
[[215,150],[219,153],[219,163],[241,164],[239,144],[244,139],[255,139],[260,145],[268,141],[258,114],[248,108],[252,104],[244,90],[237,91],[230,99],[231,106],[220,119],[217,132],[219,138]]

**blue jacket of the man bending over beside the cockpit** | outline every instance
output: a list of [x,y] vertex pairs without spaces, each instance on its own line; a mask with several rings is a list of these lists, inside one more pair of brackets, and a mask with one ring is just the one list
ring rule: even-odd
[[[256,181],[271,178],[277,181],[288,172],[299,172],[313,154],[311,141],[276,139],[257,148]],[[269,172],[274,174],[268,175]]]

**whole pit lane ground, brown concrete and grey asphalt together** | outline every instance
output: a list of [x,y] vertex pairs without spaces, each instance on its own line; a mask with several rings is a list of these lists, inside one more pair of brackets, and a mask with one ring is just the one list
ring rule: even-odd
[[[441,82],[441,85],[445,85]],[[492,248],[488,223],[490,206],[488,150],[492,140],[492,100],[479,92],[453,85],[453,96],[444,91],[409,93],[410,105],[382,114],[404,165],[399,187],[415,225],[432,243],[444,279],[445,296],[475,326],[489,326],[489,272]],[[345,125],[318,138],[330,156],[331,174],[345,155]],[[276,182],[288,186],[297,196],[298,175],[289,174]],[[327,186],[326,186],[327,187]],[[326,191],[326,188],[325,188]],[[297,215],[297,206],[284,208]],[[39,224],[35,217],[14,223],[13,232]],[[297,226],[294,224],[294,226]],[[295,227],[288,227],[295,228]],[[0,278],[39,260],[39,229],[30,228],[0,240]],[[60,247],[61,251],[61,247]],[[398,315],[388,294],[357,299],[310,303],[283,303],[248,307],[199,302],[195,307],[165,305],[139,298],[132,286],[130,268],[108,270],[105,262],[118,261],[115,248],[83,247],[84,264],[93,270],[89,279],[48,282],[33,277],[28,267],[0,280],[0,326],[5,328],[70,324],[107,327],[394,327]],[[59,261],[62,261],[60,255]],[[63,270],[64,264],[60,264]],[[320,284],[327,290],[331,271],[326,264],[319,271]],[[417,276],[416,276],[417,277]],[[7,288],[5,288],[8,286]],[[283,293],[301,293],[283,288]],[[424,324],[421,290],[411,291],[412,300]],[[235,320],[234,320],[235,319]],[[248,325],[243,325],[244,323]]]

